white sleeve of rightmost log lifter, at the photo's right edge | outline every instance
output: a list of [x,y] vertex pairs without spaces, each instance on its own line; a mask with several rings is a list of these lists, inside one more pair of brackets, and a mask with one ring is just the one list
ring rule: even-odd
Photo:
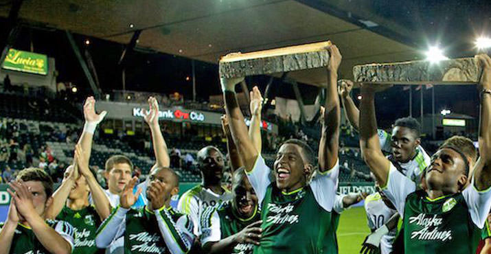
[[472,222],[482,229],[484,222],[488,218],[488,213],[491,208],[491,187],[483,191],[478,191],[475,187],[475,179],[472,176],[470,185],[464,189],[462,196],[466,200],[470,218]]

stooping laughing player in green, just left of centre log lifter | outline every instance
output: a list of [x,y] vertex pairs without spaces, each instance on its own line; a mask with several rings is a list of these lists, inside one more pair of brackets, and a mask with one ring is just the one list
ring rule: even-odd
[[205,253],[251,254],[259,244],[261,218],[258,197],[244,168],[233,172],[232,200],[208,207],[201,216],[201,244]]

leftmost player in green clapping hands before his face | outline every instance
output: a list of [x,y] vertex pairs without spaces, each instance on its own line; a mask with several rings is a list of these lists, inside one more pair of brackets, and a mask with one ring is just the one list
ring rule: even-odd
[[41,169],[27,168],[9,186],[8,216],[0,223],[0,253],[71,253],[73,227],[45,218],[52,203],[52,179]]

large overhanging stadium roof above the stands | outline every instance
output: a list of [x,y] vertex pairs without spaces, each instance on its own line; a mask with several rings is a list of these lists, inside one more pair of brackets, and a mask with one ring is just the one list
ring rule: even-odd
[[[355,14],[371,15],[387,24],[380,16],[369,10],[352,14],[347,12],[352,6],[334,3],[339,9],[327,1],[308,0],[99,0],[90,4],[43,0],[24,1],[19,17],[38,27],[123,44],[142,30],[137,47],[215,63],[229,52],[330,40],[340,45],[343,54],[342,78],[350,78],[356,64],[420,56],[415,47],[400,43],[404,40],[396,32],[388,33],[391,38],[382,36],[384,27],[354,18]],[[10,5],[0,6],[0,16],[8,16],[9,10]],[[396,23],[388,24],[391,31],[408,32]],[[290,78],[306,84],[326,82],[322,69],[290,73]]]

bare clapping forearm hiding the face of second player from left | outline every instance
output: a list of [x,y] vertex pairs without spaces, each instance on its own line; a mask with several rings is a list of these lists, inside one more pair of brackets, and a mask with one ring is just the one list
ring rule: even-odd
[[85,181],[87,181],[87,185],[89,185],[89,189],[91,190],[95,211],[97,211],[101,220],[105,220],[109,217],[109,214],[111,214],[111,203],[109,203],[109,198],[107,198],[104,190],[99,185],[97,178],[95,178],[95,175],[89,170],[89,160],[85,159],[85,154],[80,144],[77,144],[75,147],[75,159],[78,165],[78,172],[84,176]]

